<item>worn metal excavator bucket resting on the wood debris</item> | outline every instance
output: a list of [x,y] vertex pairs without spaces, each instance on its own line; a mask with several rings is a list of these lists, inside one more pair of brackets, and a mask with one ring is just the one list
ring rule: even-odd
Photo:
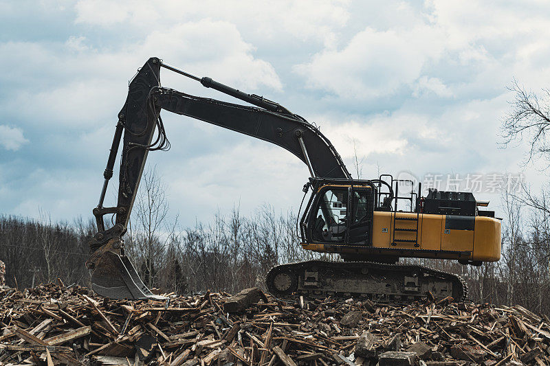
[[110,250],[100,253],[100,258],[94,260],[91,288],[111,299],[166,299],[151,293],[126,255]]

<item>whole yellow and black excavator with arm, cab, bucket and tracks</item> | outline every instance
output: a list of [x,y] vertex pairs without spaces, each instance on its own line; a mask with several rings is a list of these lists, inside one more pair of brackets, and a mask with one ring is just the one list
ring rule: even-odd
[[[161,68],[201,82],[253,106],[199,98],[162,87]],[[411,301],[431,293],[460,301],[467,294],[461,277],[425,266],[397,264],[399,258],[458,260],[480,265],[500,259],[500,220],[487,202],[469,192],[429,190],[382,174],[353,179],[329,139],[313,124],[276,102],[199,78],[150,58],[129,84],[118,114],[104,170],[100,200],[93,213],[98,233],[91,238],[92,288],[115,299],[158,299],[124,255],[126,225],[149,151],[167,150],[162,110],[186,115],[276,144],[309,169],[296,223],[300,245],[318,253],[338,253],[342,261],[311,260],[274,266],[267,289],[277,297],[359,297]],[[120,142],[118,204],[104,207],[105,192]],[[306,200],[307,194],[309,199]],[[111,227],[105,215],[114,215]]]

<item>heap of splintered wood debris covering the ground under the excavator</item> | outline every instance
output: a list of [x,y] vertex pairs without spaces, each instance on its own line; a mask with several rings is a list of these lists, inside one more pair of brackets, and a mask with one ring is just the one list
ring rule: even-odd
[[293,302],[257,288],[168,297],[1,290],[0,365],[550,365],[550,320],[520,306]]

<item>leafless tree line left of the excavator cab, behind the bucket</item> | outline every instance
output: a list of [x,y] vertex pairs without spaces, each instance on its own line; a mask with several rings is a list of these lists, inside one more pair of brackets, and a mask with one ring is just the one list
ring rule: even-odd
[[[144,208],[157,209],[138,203],[136,216]],[[144,283],[168,293],[236,293],[263,286],[265,273],[276,264],[336,259],[303,251],[296,240],[296,216],[277,215],[269,205],[251,216],[234,208],[228,215],[217,213],[210,222],[185,229],[172,223],[167,231],[164,220],[143,226],[134,218],[124,245]],[[87,241],[95,232],[93,220],[52,223],[0,215],[0,260],[6,264],[6,284],[28,288],[59,278],[66,285],[89,286]]]

